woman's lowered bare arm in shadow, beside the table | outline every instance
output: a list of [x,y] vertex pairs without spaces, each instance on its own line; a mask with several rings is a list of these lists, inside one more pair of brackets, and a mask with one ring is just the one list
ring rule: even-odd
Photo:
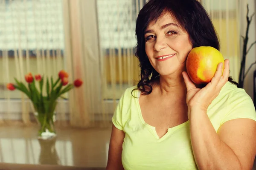
[[112,132],[108,150],[108,164],[106,170],[123,170],[122,166],[122,143],[125,133],[112,125]]

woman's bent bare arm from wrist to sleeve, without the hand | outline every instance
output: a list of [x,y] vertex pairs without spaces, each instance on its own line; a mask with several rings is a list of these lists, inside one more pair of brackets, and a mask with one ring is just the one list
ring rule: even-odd
[[250,170],[256,154],[256,122],[233,119],[218,133],[206,113],[191,111],[190,136],[195,161],[201,170]]

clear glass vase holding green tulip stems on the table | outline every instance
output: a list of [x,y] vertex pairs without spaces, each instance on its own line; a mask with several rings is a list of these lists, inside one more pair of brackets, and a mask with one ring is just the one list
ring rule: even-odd
[[52,139],[56,135],[55,131],[55,108],[56,101],[43,101],[33,103],[35,108],[35,117],[40,125],[38,129],[38,139]]

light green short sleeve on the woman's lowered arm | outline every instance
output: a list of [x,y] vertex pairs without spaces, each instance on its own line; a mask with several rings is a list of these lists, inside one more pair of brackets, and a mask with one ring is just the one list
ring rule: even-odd
[[112,117],[112,122],[113,125],[119,129],[123,130],[123,125],[122,125],[122,107],[123,107],[123,100],[124,100],[124,94],[121,96],[119,99],[119,102],[116,106],[116,109],[114,111],[113,117]]

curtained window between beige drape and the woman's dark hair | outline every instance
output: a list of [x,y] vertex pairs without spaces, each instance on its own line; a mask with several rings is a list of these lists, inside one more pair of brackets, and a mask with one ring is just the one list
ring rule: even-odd
[[119,99],[126,88],[139,80],[135,26],[144,4],[145,0],[97,0],[104,99]]

